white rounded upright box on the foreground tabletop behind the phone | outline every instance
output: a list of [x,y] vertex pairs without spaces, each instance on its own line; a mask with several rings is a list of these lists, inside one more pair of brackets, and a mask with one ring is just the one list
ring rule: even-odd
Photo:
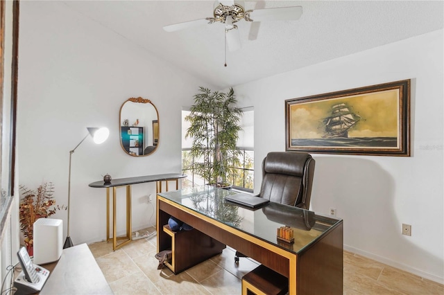
[[34,264],[57,261],[63,251],[63,221],[40,218],[34,222]]

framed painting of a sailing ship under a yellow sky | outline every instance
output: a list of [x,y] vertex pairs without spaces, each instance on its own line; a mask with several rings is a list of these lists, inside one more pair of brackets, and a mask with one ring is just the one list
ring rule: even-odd
[[410,80],[285,100],[286,150],[410,156]]

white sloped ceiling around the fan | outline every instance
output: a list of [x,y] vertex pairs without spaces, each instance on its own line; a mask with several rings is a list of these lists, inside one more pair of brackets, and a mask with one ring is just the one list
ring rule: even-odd
[[443,1],[244,1],[246,10],[302,6],[303,13],[298,21],[263,21],[255,40],[248,40],[251,23],[239,21],[242,47],[227,52],[225,67],[223,24],[173,33],[162,29],[212,17],[214,1],[64,3],[220,89],[428,33],[444,24]]

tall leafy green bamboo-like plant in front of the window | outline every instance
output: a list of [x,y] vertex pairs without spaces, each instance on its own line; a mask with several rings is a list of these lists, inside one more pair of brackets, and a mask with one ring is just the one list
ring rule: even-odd
[[236,107],[232,88],[228,93],[204,87],[199,87],[199,91],[194,96],[191,113],[185,117],[190,123],[185,138],[193,138],[194,171],[212,186],[230,186],[227,175],[240,166],[237,139],[243,112]]

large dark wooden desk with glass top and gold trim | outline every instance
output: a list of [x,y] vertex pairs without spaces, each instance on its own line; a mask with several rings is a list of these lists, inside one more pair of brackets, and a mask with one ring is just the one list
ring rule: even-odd
[[[289,294],[342,294],[342,220],[276,203],[250,209],[225,202],[234,194],[212,186],[157,194],[157,251],[171,249],[171,271],[178,274],[228,245],[289,278]],[[170,216],[194,230],[174,233]],[[293,243],[278,240],[281,226],[293,229]]]

